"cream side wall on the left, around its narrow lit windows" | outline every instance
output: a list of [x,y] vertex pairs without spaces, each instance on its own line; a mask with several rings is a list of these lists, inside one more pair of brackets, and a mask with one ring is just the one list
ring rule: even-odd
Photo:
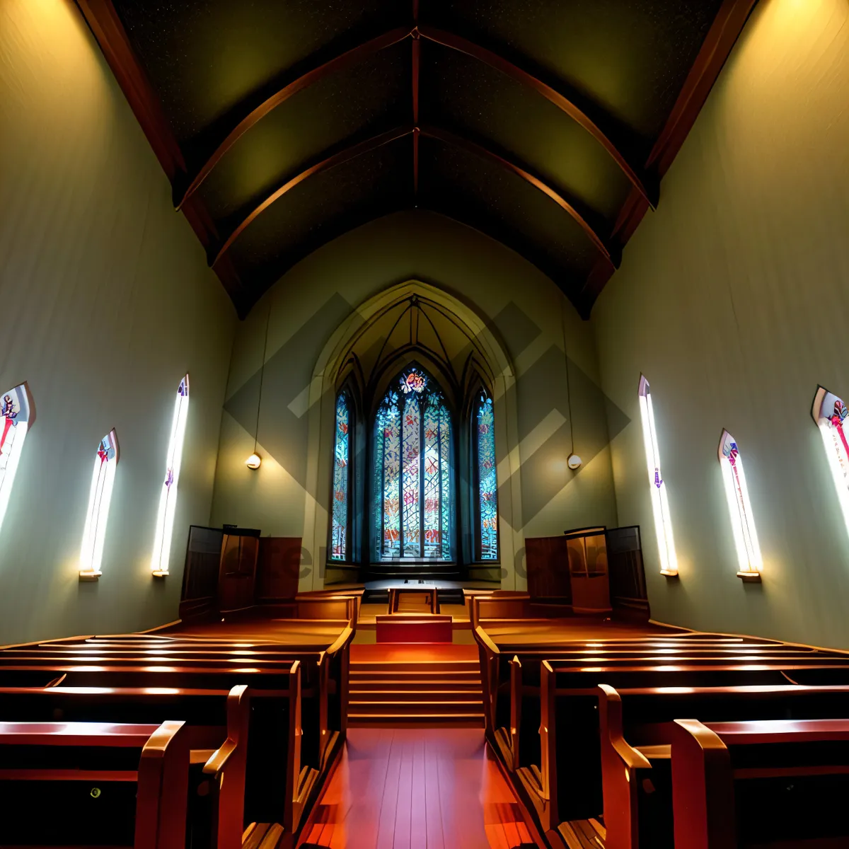
[[[37,420],[0,531],[0,643],[177,616],[209,520],[235,313],[73,3],[0,4],[0,384]],[[172,575],[149,574],[174,396],[191,376]],[[96,583],[77,580],[93,456],[121,461]]]

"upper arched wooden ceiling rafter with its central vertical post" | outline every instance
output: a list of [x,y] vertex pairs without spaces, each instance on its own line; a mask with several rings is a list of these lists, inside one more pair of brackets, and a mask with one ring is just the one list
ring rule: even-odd
[[[215,149],[207,156],[204,163],[194,172],[193,175],[187,177],[182,184],[176,183],[174,188],[174,204],[179,210],[188,200],[200,185],[204,182],[218,164],[227,151],[233,147],[239,138],[245,132],[248,132],[251,127],[261,121],[268,113],[276,109],[280,104],[285,103],[296,93],[301,92],[306,87],[311,86],[314,82],[322,80],[326,76],[330,76],[340,70],[344,70],[351,65],[374,53],[379,53],[380,50],[391,47],[393,44],[402,42],[405,38],[413,39],[413,123],[418,123],[419,112],[419,55],[420,55],[420,39],[425,38],[430,42],[440,44],[442,47],[450,48],[465,53],[473,59],[477,59],[486,65],[489,65],[496,70],[501,71],[511,79],[521,82],[523,85],[531,88],[531,90],[541,94],[550,103],[554,104],[565,115],[576,121],[581,127],[590,133],[599,144],[607,151],[611,159],[616,162],[622,173],[632,183],[649,205],[655,207],[659,194],[659,183],[655,179],[649,178],[644,169],[637,166],[628,160],[628,157],[617,147],[616,143],[611,138],[610,130],[605,130],[599,125],[599,120],[593,121],[571,98],[567,97],[543,82],[536,76],[533,76],[526,70],[522,70],[518,65],[514,65],[508,59],[499,56],[488,48],[481,47],[475,42],[469,41],[467,38],[456,36],[453,33],[438,30],[431,26],[415,26],[412,29],[406,27],[398,27],[396,29],[385,32],[383,35],[370,39],[368,42],[358,45],[356,48],[351,48],[321,65],[317,65],[306,73],[297,77],[295,80],[287,83],[284,87],[278,89],[269,98],[263,100],[260,104],[256,104],[256,93],[251,93],[242,102],[241,108],[237,108],[237,114],[243,115],[235,126],[227,132],[222,140],[216,144]],[[604,121],[604,123],[612,123],[612,121]],[[418,158],[418,138],[414,139],[413,156]],[[418,163],[414,163],[414,173],[418,175]],[[418,180],[416,180],[418,182]],[[182,188],[184,186],[184,188]]]

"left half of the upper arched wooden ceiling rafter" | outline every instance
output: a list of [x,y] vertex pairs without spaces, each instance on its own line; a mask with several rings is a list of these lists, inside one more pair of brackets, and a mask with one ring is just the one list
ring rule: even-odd
[[242,112],[245,115],[241,121],[239,121],[236,126],[233,127],[233,129],[230,130],[224,138],[222,138],[221,142],[216,145],[216,148],[206,158],[205,162],[200,166],[198,171],[194,173],[194,176],[190,178],[187,177],[188,185],[186,185],[185,188],[178,190],[177,184],[175,184],[175,208],[182,208],[186,200],[188,200],[188,198],[197,191],[200,184],[203,183],[206,177],[209,176],[212,169],[222,159],[222,156],[233,147],[233,144],[235,144],[239,138],[245,134],[245,132],[248,132],[251,127],[253,127],[258,121],[261,121],[261,119],[269,112],[276,109],[280,104],[285,103],[285,101],[302,91],[304,88],[312,86],[314,82],[323,80],[324,77],[335,74],[340,70],[350,67],[351,65],[356,65],[357,62],[371,56],[373,53],[378,53],[384,48],[391,47],[393,44],[403,41],[405,38],[409,37],[409,35],[410,31],[406,27],[398,27],[394,30],[385,32],[381,36],[372,38],[368,42],[363,42],[363,44],[357,45],[356,48],[346,50],[344,53],[340,53],[333,59],[329,59],[329,61],[323,62],[321,65],[317,65],[315,68],[306,71],[305,74],[301,74],[301,76],[297,77],[292,82],[278,89],[278,91],[273,93],[271,97],[263,100],[259,105],[251,105],[255,102],[255,100],[254,96],[249,94],[241,104],[241,108],[239,109],[237,107],[237,111]]

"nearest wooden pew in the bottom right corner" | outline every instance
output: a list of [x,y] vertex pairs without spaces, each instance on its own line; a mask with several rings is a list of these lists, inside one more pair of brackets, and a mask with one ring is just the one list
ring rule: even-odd
[[674,727],[676,849],[849,846],[849,720]]

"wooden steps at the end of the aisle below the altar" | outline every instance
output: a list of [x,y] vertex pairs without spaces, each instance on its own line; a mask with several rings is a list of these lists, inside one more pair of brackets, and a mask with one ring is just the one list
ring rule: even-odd
[[481,667],[474,660],[351,660],[348,723],[481,728]]

